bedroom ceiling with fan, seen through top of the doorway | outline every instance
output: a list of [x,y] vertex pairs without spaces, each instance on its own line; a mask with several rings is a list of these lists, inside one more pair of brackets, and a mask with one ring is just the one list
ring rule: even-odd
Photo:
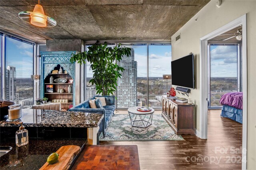
[[[209,41],[210,42],[223,42],[223,43],[228,43],[228,42],[240,43],[242,40],[236,40],[236,37],[233,37],[233,36],[237,35],[237,30],[240,30],[240,29],[242,29],[242,26],[238,26],[232,30],[229,30],[219,36],[216,36],[216,37],[210,39]],[[231,34],[231,35],[226,35],[226,34]],[[230,37],[233,37],[233,38],[230,38]],[[226,40],[227,38],[230,38],[230,39]]]

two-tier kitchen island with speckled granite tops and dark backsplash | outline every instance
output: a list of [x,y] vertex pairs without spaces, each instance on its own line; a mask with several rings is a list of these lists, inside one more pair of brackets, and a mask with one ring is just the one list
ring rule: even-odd
[[[47,157],[64,145],[97,144],[97,133],[103,115],[69,111],[22,109],[18,121],[0,121],[0,146],[12,150],[0,157],[0,169],[39,169]],[[15,145],[15,132],[23,122],[29,142]],[[86,133],[87,130],[87,133]]]

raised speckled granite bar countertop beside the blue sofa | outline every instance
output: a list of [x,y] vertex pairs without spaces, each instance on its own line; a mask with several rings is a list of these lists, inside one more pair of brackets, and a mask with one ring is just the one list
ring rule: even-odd
[[0,121],[0,127],[98,127],[103,115],[72,111],[52,111],[39,109],[22,109],[22,117],[18,121]]

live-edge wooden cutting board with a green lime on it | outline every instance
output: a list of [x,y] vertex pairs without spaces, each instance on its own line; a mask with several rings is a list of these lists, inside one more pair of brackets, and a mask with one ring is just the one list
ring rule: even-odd
[[54,164],[49,164],[46,162],[44,166],[40,168],[40,170],[68,170],[72,160],[80,151],[80,146],[61,146],[56,152],[59,155],[58,161]]

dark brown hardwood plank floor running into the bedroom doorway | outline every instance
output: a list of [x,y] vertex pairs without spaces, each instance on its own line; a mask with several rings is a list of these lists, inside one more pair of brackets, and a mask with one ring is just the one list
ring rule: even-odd
[[182,137],[185,140],[102,141],[100,144],[136,144],[141,170],[242,168],[242,125],[220,117],[220,110],[208,111],[207,140],[191,135]]

